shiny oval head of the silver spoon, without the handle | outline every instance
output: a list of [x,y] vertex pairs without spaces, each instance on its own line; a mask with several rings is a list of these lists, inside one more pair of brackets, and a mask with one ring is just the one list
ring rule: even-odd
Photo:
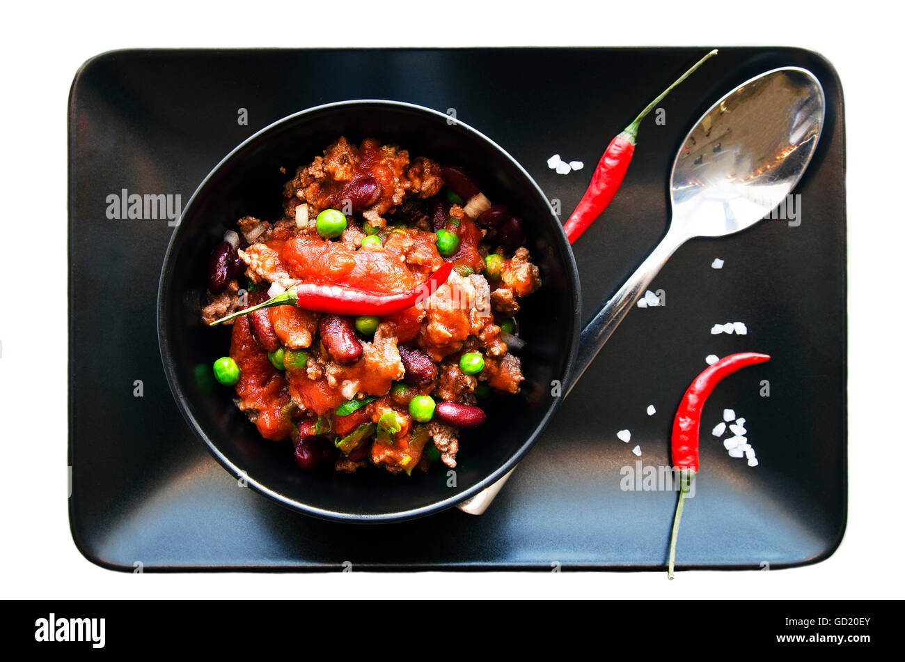
[[798,67],[764,72],[717,101],[672,164],[672,228],[730,235],[781,205],[814,156],[824,90]]

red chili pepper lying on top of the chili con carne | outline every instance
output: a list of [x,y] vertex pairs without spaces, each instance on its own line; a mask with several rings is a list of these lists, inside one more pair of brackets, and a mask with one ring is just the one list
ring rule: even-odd
[[415,303],[426,299],[437,291],[452,272],[452,262],[443,263],[439,269],[427,277],[410,293],[375,294],[342,285],[321,285],[317,283],[297,283],[283,293],[265,302],[211,323],[211,326],[271,306],[293,305],[307,311],[332,312],[338,315],[388,315],[404,311]]

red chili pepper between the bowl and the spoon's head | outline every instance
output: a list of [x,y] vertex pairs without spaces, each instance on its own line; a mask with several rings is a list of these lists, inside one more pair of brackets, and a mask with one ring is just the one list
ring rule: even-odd
[[635,141],[638,139],[638,126],[641,120],[653,110],[658,103],[663,101],[667,94],[672,91],[676,85],[684,81],[700,67],[701,64],[716,55],[716,49],[710,51],[702,57],[691,69],[681,74],[676,82],[673,82],[661,95],[647,104],[647,107],[641,111],[625,130],[610,141],[609,146],[604,152],[604,156],[600,158],[594,175],[591,176],[591,183],[588,185],[585,195],[578,201],[572,216],[568,217],[563,228],[566,230],[566,236],[569,244],[581,236],[583,232],[591,225],[597,216],[600,216],[610,201],[613,200],[616,191],[622,185],[625,171],[628,170],[628,164],[632,160],[634,154]]

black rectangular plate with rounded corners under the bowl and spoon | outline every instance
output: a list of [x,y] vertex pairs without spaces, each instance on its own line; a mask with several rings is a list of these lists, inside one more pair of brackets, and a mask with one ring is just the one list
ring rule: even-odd
[[[819,55],[721,49],[662,103],[664,124],[644,122],[622,190],[574,247],[587,317],[662,235],[672,158],[710,103],[784,65],[810,69],[826,92],[797,217],[683,246],[654,283],[666,305],[629,315],[481,517],[329,523],[237,485],[186,427],[157,352],[157,279],[172,227],[107,215],[108,197],[123,189],[185,203],[252,132],[320,103],[367,98],[455,109],[567,214],[607,142],[705,51],[124,51],[88,62],[69,124],[70,521],[81,552],[128,571],[340,570],[346,561],[362,570],[659,569],[675,494],[624,489],[624,467],[668,465],[672,415],[707,355],[756,350],[773,360],[727,380],[705,408],[680,565],[776,568],[831,554],[846,504],[845,145],[840,83]],[[585,168],[557,175],[547,167],[555,153]],[[720,270],[710,266],[718,257]],[[745,322],[748,335],[710,334],[726,321]],[[728,457],[710,436],[723,408],[747,419],[759,466]],[[615,437],[624,428],[629,444]]]

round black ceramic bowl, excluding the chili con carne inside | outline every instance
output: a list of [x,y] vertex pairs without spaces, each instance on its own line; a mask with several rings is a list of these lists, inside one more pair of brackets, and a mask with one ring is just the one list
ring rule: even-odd
[[[206,367],[229,348],[229,328],[200,319],[208,254],[245,215],[281,217],[283,183],[339,136],[359,142],[375,137],[415,156],[469,168],[494,202],[510,206],[526,222],[532,261],[543,287],[519,313],[527,346],[521,352],[525,382],[516,396],[487,407],[487,422],[462,433],[458,466],[428,473],[390,475],[369,469],[354,475],[305,472],[291,445],[260,437],[233,404],[232,389],[211,386]],[[280,168],[286,168],[286,174]],[[160,353],[170,389],[188,424],[220,464],[245,476],[252,489],[303,513],[334,520],[386,522],[433,513],[491,485],[534,443],[555,413],[557,380],[577,347],[578,276],[562,227],[529,174],[503,149],[435,110],[393,101],[346,101],[304,110],[259,131],[205,177],[186,205],[164,259],[157,294]],[[454,485],[452,485],[454,481]]]

